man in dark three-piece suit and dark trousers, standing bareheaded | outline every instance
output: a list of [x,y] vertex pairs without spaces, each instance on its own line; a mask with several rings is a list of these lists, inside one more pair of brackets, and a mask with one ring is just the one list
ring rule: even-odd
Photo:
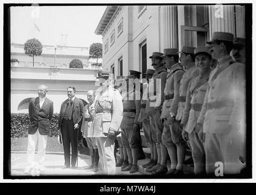
[[62,135],[64,147],[64,168],[70,168],[70,143],[72,147],[71,166],[75,169],[77,162],[77,133],[81,128],[83,119],[83,102],[75,97],[75,87],[67,88],[67,96],[69,97],[61,104],[59,112],[59,133]]

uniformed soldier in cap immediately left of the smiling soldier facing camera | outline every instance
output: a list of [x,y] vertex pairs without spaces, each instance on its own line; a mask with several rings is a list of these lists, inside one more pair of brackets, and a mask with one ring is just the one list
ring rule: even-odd
[[187,86],[189,85],[190,79],[198,75],[198,70],[195,67],[194,49],[195,48],[190,46],[183,46],[183,48],[181,48],[181,52],[179,52],[181,53],[179,60],[181,61],[181,65],[185,68],[185,73],[183,74],[179,84],[178,110],[176,106],[171,106],[170,116],[168,119],[168,121],[170,121],[171,135],[176,138],[175,144],[177,147],[178,164],[174,174],[178,176],[184,174],[183,166],[186,154],[186,142],[183,140],[181,135],[183,129],[180,122],[186,102]]

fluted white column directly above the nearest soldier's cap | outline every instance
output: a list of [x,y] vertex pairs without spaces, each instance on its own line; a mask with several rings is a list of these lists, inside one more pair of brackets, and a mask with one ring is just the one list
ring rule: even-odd
[[209,5],[209,38],[214,32],[230,32],[235,35],[235,6]]

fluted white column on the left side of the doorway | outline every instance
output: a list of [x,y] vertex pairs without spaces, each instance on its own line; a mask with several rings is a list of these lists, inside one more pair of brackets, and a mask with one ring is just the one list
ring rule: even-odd
[[176,5],[164,5],[164,49],[178,48],[178,12]]

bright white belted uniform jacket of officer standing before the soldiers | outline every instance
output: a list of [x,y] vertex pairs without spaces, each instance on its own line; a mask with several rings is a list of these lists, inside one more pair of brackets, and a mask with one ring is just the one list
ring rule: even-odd
[[[96,113],[97,109],[108,110]],[[107,137],[108,130],[118,132],[122,121],[122,96],[118,90],[107,87],[100,92],[95,104],[94,119],[92,122],[92,137]]]

